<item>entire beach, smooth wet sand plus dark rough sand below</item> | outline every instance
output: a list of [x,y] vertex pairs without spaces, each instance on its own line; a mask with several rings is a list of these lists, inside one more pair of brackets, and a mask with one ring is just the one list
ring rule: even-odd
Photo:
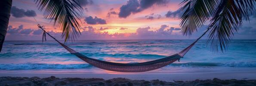
[[[256,85],[256,71],[174,74],[0,74],[4,85],[237,86]],[[54,76],[54,77],[53,77]]]

